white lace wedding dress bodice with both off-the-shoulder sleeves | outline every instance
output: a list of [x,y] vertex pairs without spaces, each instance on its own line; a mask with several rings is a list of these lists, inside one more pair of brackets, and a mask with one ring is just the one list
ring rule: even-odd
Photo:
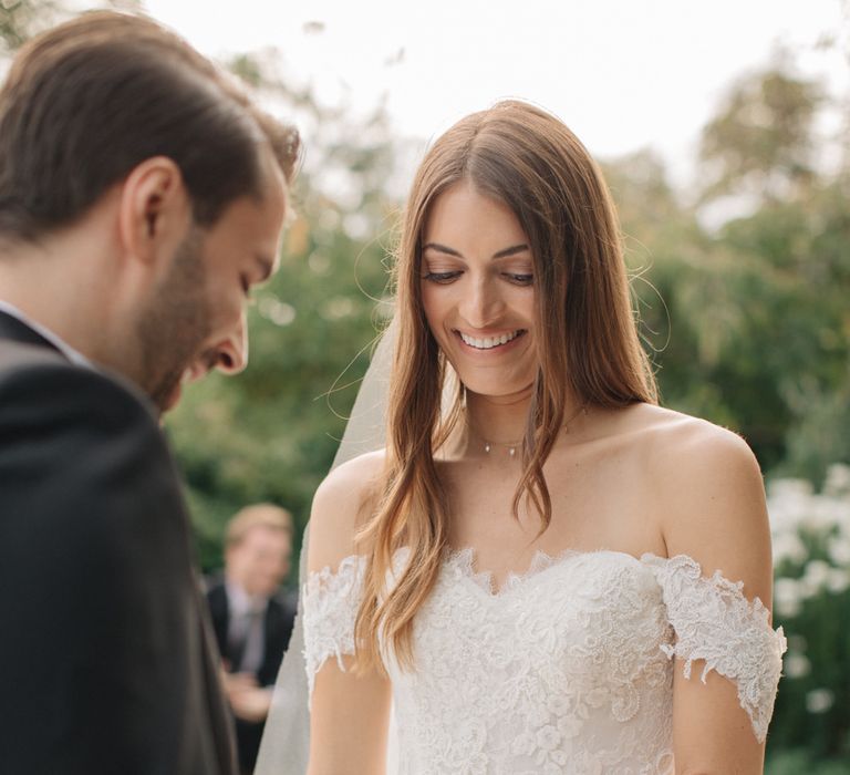
[[[352,556],[304,585],[311,694],[324,661],[354,651],[364,570]],[[764,741],[786,649],[740,583],[609,550],[538,552],[500,590],[470,549],[447,552],[413,636],[415,672],[385,660],[400,775],[672,773],[672,658],[734,681]]]

